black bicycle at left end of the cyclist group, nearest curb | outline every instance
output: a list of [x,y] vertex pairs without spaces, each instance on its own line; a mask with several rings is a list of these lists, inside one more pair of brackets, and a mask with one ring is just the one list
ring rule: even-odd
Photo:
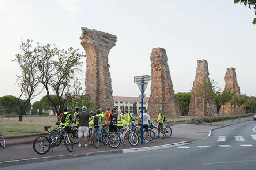
[[[45,136],[39,136],[37,137],[33,142],[33,149],[37,154],[46,154],[51,148],[53,152],[53,148],[56,147],[56,143],[59,142],[60,138],[64,138],[65,146],[69,152],[73,151],[73,143],[69,139],[67,132],[65,132],[65,128],[68,125],[65,125],[64,127],[58,127],[58,132],[50,133],[48,137]],[[48,130],[51,126],[44,126],[45,130]],[[53,138],[52,138],[53,137]],[[39,146],[39,148],[37,148]],[[46,148],[45,148],[46,147]]]

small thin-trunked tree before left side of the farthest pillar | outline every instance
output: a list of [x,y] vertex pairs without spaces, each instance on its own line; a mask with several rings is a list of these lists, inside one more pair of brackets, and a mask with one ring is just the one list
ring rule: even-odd
[[219,102],[219,105],[223,106],[222,122],[224,122],[224,106],[226,103],[232,100],[233,95],[236,92],[237,91],[232,91],[231,88],[227,88],[227,87],[224,88],[222,92],[221,91],[217,92],[217,101]]

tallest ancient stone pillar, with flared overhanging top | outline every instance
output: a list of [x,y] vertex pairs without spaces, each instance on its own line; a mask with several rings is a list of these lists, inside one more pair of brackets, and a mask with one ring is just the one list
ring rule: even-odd
[[85,92],[96,108],[113,105],[108,54],[116,44],[116,35],[81,28],[81,45],[86,52]]

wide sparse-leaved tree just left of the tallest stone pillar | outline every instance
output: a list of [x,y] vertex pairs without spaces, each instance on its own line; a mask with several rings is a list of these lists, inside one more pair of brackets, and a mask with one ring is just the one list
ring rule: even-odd
[[[82,58],[78,49],[58,49],[56,45],[42,45],[34,49],[38,56],[37,64],[42,77],[40,82],[47,92],[47,98],[52,103],[57,115],[63,112],[77,95],[81,93],[81,82],[77,74],[82,72]],[[57,96],[57,103],[50,98],[50,90]]]

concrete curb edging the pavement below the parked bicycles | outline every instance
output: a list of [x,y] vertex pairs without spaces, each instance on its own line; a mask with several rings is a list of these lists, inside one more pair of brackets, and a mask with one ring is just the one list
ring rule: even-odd
[[163,148],[172,148],[172,147],[176,147],[176,146],[182,146],[182,145],[185,145],[185,144],[188,144],[188,143],[191,143],[191,142],[190,141],[182,141],[182,142],[179,142],[179,143],[172,143],[172,144],[166,144],[166,145],[161,145],[161,146],[153,146],[153,147],[131,148],[131,149],[123,149],[123,150],[99,151],[99,152],[89,152],[89,153],[81,153],[81,154],[47,156],[47,157],[42,157],[42,158],[11,160],[11,161],[0,162],[0,167],[24,165],[24,164],[38,163],[38,162],[46,162],[46,161],[51,161],[51,160],[81,158],[81,157],[86,157],[86,156],[122,154],[122,153],[125,154],[125,153],[131,153],[131,152],[152,151],[152,150],[159,150],[159,149],[163,149]]

